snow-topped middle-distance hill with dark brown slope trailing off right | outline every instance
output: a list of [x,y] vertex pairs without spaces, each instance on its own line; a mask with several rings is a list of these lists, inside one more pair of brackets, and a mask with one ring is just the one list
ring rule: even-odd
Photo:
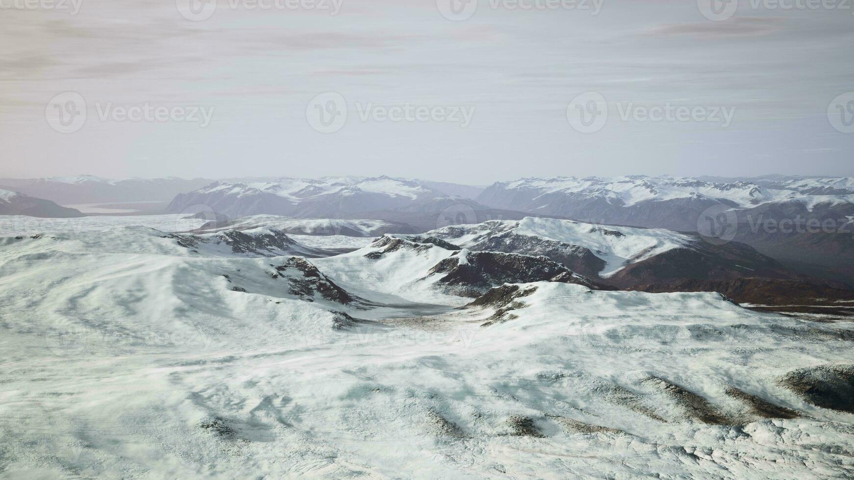
[[804,303],[817,298],[854,298],[854,291],[844,284],[798,275],[750,246],[739,242],[710,244],[697,234],[663,228],[526,217],[521,221],[439,228],[422,237],[445,240],[475,252],[545,256],[594,281],[621,289],[717,291],[741,302],[757,298],[770,302],[780,292],[789,292]]

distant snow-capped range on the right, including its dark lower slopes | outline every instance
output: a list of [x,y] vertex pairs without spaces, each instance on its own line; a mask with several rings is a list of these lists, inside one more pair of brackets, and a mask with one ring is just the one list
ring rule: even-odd
[[746,243],[800,273],[854,285],[854,235],[846,223],[854,217],[854,179],[713,180],[527,178],[495,183],[477,201],[537,215],[680,232],[705,231],[715,223],[732,228],[725,240]]

